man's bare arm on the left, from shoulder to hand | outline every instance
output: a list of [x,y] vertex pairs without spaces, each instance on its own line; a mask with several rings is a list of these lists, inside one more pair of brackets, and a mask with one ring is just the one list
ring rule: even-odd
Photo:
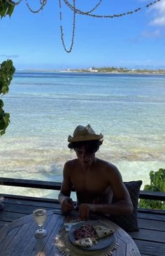
[[73,185],[71,184],[69,170],[69,162],[66,162],[63,169],[62,187],[58,196],[63,213],[71,212],[74,209],[73,200],[70,198]]

